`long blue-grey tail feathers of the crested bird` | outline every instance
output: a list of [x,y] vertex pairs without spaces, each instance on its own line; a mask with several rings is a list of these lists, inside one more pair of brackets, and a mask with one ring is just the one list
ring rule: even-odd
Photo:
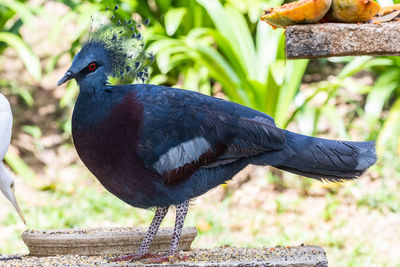
[[286,146],[274,152],[270,165],[302,176],[328,181],[357,178],[377,158],[375,142],[336,141],[285,131]]

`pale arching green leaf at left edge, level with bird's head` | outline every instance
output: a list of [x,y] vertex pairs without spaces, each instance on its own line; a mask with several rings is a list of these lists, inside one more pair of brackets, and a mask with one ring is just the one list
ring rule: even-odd
[[0,41],[7,43],[17,51],[26,69],[36,81],[39,81],[41,77],[39,58],[30,47],[19,36],[8,32],[0,32]]

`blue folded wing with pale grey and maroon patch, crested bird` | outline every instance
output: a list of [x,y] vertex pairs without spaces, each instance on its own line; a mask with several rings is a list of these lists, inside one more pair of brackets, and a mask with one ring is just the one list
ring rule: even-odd
[[268,115],[199,93],[143,86],[144,107],[137,153],[166,184],[187,179],[198,168],[280,149],[283,131]]

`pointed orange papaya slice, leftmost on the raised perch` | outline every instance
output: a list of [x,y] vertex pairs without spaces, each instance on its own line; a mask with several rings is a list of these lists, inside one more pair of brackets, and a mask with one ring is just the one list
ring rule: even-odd
[[289,25],[314,23],[325,16],[332,0],[299,0],[264,11],[261,20],[277,28]]

